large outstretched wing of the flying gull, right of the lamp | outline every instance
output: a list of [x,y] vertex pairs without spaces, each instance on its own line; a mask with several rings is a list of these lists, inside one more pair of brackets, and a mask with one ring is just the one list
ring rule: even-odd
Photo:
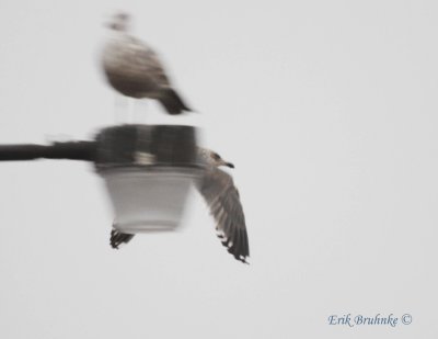
[[215,217],[222,245],[235,259],[246,263],[250,247],[245,216],[231,176],[217,168],[207,170],[198,183],[198,190]]

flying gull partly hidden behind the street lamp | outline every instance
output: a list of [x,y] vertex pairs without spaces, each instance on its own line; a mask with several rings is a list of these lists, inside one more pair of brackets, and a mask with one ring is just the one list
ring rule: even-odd
[[[239,192],[231,176],[219,169],[220,166],[230,168],[234,166],[224,161],[217,152],[200,147],[198,161],[206,166],[206,170],[201,179],[196,182],[196,188],[215,217],[217,235],[235,259],[246,263],[250,247]],[[120,244],[129,242],[132,237],[131,234],[113,229],[110,242],[113,248],[118,248]]]

